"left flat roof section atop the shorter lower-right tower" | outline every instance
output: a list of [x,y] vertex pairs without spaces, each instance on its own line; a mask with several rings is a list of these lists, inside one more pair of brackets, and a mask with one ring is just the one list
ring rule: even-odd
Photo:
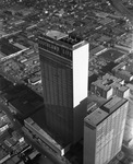
[[108,116],[108,113],[97,108],[92,114],[85,117],[85,122],[88,125],[92,125],[93,127],[96,127],[100,121],[102,121]]

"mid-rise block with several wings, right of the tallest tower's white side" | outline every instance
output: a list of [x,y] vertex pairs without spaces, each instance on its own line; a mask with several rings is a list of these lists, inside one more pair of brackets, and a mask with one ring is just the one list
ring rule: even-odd
[[109,99],[113,95],[123,98],[128,98],[130,95],[130,89],[124,84],[124,80],[108,73],[93,82],[90,91],[106,99]]

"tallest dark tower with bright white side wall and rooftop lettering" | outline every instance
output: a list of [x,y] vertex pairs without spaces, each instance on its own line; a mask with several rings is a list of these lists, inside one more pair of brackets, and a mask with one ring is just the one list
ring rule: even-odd
[[39,57],[46,125],[56,138],[70,143],[80,131],[75,120],[82,109],[76,107],[87,97],[88,43],[49,31],[39,36]]

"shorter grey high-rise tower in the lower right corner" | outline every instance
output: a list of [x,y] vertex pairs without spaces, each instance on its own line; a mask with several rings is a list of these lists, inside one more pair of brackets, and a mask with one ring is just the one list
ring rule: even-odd
[[121,150],[128,99],[114,96],[84,119],[84,164],[107,164]]

